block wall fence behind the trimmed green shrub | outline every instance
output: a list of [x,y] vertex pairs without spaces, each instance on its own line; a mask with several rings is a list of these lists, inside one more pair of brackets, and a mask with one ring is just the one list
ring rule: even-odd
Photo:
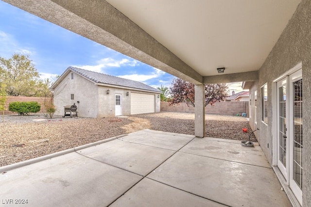
[[[8,110],[9,104],[11,102],[14,102],[14,101],[21,101],[21,102],[35,101],[35,102],[38,102],[41,105],[41,109],[38,113],[46,112],[46,110],[44,108],[44,100],[46,100],[47,102],[51,101],[51,97],[45,98],[45,97],[30,97],[30,96],[7,96],[7,98],[8,99],[6,100],[6,103],[5,103],[5,109],[7,109],[7,110],[4,110],[4,114],[6,114],[6,115],[17,114],[16,112],[12,112],[12,111]],[[2,114],[2,112],[0,114]]]

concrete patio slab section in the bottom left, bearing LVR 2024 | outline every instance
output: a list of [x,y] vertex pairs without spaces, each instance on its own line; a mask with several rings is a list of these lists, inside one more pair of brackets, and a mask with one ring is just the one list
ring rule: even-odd
[[72,152],[0,174],[0,206],[5,199],[27,199],[21,206],[31,207],[107,206],[140,179]]

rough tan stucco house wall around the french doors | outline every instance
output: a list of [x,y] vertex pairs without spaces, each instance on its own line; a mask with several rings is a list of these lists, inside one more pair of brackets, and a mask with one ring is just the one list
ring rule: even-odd
[[[302,0],[293,17],[282,32],[276,45],[270,52],[264,64],[259,69],[259,81],[250,89],[254,97],[257,91],[257,126],[260,129],[257,139],[267,159],[273,161],[273,80],[281,77],[296,64],[302,62],[303,78],[303,206],[309,206],[311,201],[311,1]],[[261,122],[260,86],[268,84],[268,124]],[[253,99],[253,98],[252,98]],[[254,102],[254,100],[252,100]],[[253,114],[253,113],[252,113]],[[254,126],[254,117],[250,124]],[[269,148],[268,148],[269,143]]]

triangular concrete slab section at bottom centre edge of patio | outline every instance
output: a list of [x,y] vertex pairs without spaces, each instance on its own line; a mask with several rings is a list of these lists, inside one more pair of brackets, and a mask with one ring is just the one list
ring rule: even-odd
[[225,207],[197,195],[144,178],[110,207]]

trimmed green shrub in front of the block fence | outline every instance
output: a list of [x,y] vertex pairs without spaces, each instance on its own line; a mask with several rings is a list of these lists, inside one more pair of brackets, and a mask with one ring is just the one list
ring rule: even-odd
[[28,115],[29,113],[39,112],[41,109],[40,104],[35,101],[30,102],[11,102],[9,104],[9,111],[17,112],[19,115]]

